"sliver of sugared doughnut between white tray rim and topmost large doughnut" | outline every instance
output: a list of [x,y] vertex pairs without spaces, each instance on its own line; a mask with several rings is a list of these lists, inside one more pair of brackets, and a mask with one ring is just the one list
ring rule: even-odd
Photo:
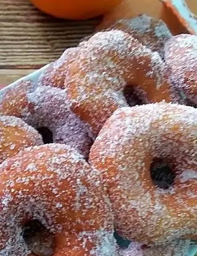
[[66,65],[72,62],[75,58],[77,47],[68,48],[63,52],[62,56],[49,64],[49,67],[44,70],[38,80],[39,86],[54,86],[64,88],[64,80],[66,76]]

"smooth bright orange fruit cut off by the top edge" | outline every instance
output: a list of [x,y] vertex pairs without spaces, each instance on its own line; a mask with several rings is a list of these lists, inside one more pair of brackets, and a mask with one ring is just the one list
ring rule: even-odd
[[84,20],[110,11],[121,0],[31,0],[42,12],[58,18]]

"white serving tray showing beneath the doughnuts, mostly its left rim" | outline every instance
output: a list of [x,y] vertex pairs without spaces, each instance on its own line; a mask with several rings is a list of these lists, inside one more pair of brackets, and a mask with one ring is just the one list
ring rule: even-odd
[[[17,83],[19,81],[22,80],[31,80],[31,81],[38,81],[39,76],[41,75],[41,73],[48,67],[48,65],[40,68],[39,70],[36,70],[35,72],[31,73],[30,75],[27,76],[23,76],[22,78],[18,79],[17,81],[15,81],[14,83],[11,83],[10,85],[6,86],[5,88],[2,88],[0,91],[6,91],[7,88],[11,88],[14,87],[15,85],[17,85]],[[191,246],[190,251],[188,253],[187,256],[195,256],[197,255],[197,246]],[[185,255],[186,256],[186,255]]]

